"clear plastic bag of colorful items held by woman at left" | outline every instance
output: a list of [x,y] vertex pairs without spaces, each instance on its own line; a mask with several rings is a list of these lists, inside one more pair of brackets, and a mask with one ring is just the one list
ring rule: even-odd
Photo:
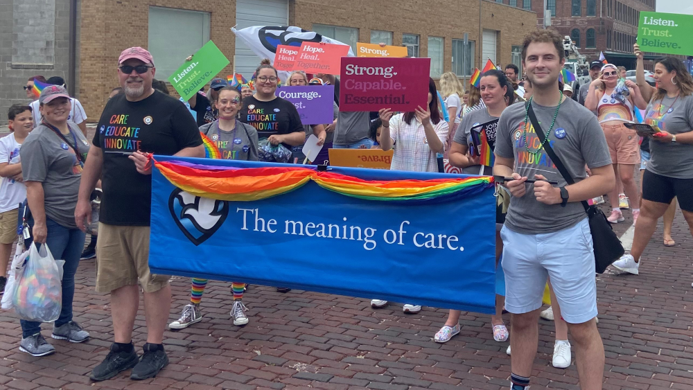
[[12,305],[21,319],[51,322],[60,317],[62,285],[60,269],[48,245],[32,243],[24,272],[15,281]]

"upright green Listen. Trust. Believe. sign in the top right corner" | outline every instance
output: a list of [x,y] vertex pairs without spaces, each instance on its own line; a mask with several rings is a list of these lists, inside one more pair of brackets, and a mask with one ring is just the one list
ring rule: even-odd
[[640,12],[641,51],[693,55],[693,15]]

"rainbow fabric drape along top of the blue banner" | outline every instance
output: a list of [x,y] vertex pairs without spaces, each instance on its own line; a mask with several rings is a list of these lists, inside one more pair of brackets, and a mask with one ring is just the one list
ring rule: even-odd
[[493,186],[493,177],[364,180],[303,167],[231,168],[179,161],[155,161],[174,186],[216,200],[252,201],[288,193],[313,180],[327,190],[367,200],[442,202],[459,200]]

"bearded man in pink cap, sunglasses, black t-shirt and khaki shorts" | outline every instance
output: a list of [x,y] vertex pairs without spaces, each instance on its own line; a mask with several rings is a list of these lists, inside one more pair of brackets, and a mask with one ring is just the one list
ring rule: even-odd
[[[89,195],[101,179],[96,291],[110,292],[114,343],[91,380],[106,380],[132,368],[130,378],[152,378],[168,364],[162,344],[171,292],[169,276],[150,274],[149,231],[152,163],[146,153],[204,157],[195,119],[179,100],[152,89],[154,59],[143,48],[127,48],[119,57],[118,78],[124,94],[106,104],[94,145],[82,172],[75,211],[78,227],[91,223]],[[139,359],[132,328],[144,291],[147,344]]]

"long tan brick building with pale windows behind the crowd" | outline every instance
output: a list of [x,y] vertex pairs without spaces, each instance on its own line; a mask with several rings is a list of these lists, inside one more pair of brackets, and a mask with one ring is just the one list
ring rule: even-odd
[[[32,9],[42,9],[40,4],[57,6],[69,2],[79,4],[75,34],[82,37],[75,51],[78,80],[70,80],[69,84],[78,87],[75,95],[90,121],[98,120],[109,91],[118,85],[116,62],[121,50],[128,46],[148,48],[156,60],[157,78],[165,80],[187,55],[212,39],[231,61],[222,74],[236,70],[249,76],[259,58],[236,41],[230,28],[289,25],[314,30],[352,46],[356,42],[403,44],[412,55],[432,58],[432,77],[452,70],[468,78],[471,69],[482,66],[486,57],[497,64],[520,65],[523,36],[536,28],[536,13],[532,10],[489,0],[393,0],[376,2],[377,6],[369,0],[0,0],[0,7],[10,4],[0,8],[0,18],[21,17],[16,11],[18,3],[35,3],[36,8]],[[11,4],[15,4],[15,15]],[[10,12],[4,12],[6,9]],[[58,18],[55,20],[57,31]],[[6,39],[7,33],[7,39],[12,40],[11,32],[4,27],[0,33],[1,39]],[[2,59],[6,61],[4,56]],[[56,65],[53,69],[38,73],[67,73],[62,64],[63,73],[58,73]],[[35,74],[37,69],[28,73]],[[31,76],[28,73],[26,77]],[[3,77],[0,85],[6,85],[2,88],[8,91],[12,89],[12,99],[24,101],[21,85],[26,78],[21,78],[24,73],[11,80]],[[3,93],[4,89],[0,89]],[[0,104],[6,105],[5,101]],[[6,107],[0,112],[0,121],[4,120]]]

